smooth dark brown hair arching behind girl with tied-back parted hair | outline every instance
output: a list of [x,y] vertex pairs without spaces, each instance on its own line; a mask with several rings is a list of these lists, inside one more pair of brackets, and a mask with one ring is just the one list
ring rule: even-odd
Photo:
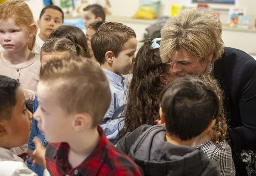
[[79,29],[78,27],[62,25],[56,30],[52,31],[50,38],[52,37],[70,39],[73,43],[76,43],[84,49],[84,55],[81,56],[90,58],[86,36],[83,33],[83,30]]

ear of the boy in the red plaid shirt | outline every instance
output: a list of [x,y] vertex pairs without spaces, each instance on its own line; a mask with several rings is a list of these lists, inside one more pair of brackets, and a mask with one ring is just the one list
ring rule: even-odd
[[89,114],[77,114],[74,116],[72,126],[76,132],[79,132],[87,127],[90,127],[91,121],[92,117]]

